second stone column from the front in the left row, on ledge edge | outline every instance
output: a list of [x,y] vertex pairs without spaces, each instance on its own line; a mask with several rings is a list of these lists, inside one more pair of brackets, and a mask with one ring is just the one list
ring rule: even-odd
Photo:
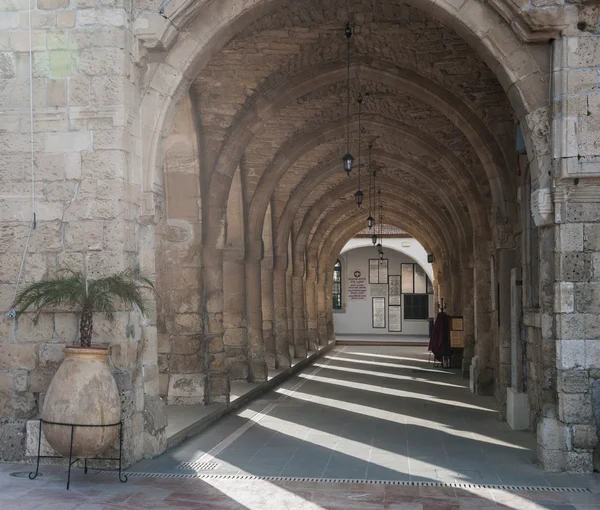
[[[262,246],[262,241],[256,242],[259,243]],[[246,253],[246,321],[250,371],[248,380],[251,382],[266,381],[268,376],[262,331],[261,252],[262,248],[251,246]]]

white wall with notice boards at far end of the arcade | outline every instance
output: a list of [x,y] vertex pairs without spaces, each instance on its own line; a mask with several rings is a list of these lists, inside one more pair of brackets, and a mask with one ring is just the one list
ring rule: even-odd
[[[402,263],[418,263],[433,280],[431,264],[427,262],[425,249],[415,239],[384,239],[384,256],[388,259],[388,274],[400,275]],[[415,336],[428,336],[429,324],[426,320],[404,319],[402,306],[402,332],[389,331],[388,297],[385,299],[386,327],[372,326],[372,298],[376,286],[369,283],[369,259],[378,258],[370,239],[352,239],[342,249],[339,260],[342,263],[342,310],[334,310],[336,335],[382,335],[409,339]],[[349,278],[356,271],[366,278],[366,298],[348,299]],[[404,305],[404,296],[401,297]],[[429,296],[429,316],[435,313],[433,295]],[[421,339],[422,340],[422,339]]]

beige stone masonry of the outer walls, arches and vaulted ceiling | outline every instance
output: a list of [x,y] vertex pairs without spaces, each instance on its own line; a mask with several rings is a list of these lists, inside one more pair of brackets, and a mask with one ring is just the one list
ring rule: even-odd
[[[140,263],[156,277],[149,317],[96,318],[94,340],[111,344],[128,461],[164,449],[160,395],[174,405],[227,402],[231,380],[264,381],[267,365],[289,364],[288,350],[305,356],[333,338],[331,268],[364,227],[340,157],[360,132],[377,140],[386,222],[434,254],[437,295],[460,297],[463,371],[502,403],[506,285],[529,242],[515,211],[527,202],[539,229],[539,245],[521,257],[526,281],[540,261],[531,280],[539,303],[526,295],[523,313],[539,458],[551,469],[592,469],[595,5],[34,4],[29,13],[28,3],[7,1],[0,15],[0,310],[17,281],[64,267],[95,275]],[[345,39],[330,30],[346,8],[356,28],[351,96],[372,92],[361,131],[343,100]],[[516,121],[527,183],[516,170]],[[63,310],[37,324],[0,320],[3,459],[22,457],[25,422],[75,340],[76,319]]]

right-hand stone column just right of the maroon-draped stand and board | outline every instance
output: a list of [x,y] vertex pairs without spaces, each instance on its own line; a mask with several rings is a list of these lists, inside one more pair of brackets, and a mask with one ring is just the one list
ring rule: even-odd
[[492,395],[494,392],[494,369],[492,365],[492,298],[491,298],[491,247],[487,239],[474,240],[474,289],[475,289],[475,366],[471,365],[475,392]]

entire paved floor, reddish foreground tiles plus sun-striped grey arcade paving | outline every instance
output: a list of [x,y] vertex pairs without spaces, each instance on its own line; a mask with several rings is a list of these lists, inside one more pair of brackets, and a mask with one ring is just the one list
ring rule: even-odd
[[[493,399],[427,359],[422,347],[338,347],[260,401],[133,466],[149,476],[125,484],[77,470],[66,492],[64,468],[43,467],[30,481],[8,475],[24,466],[0,465],[0,509],[600,510],[598,475],[539,470],[532,434],[511,431]],[[474,485],[398,484],[411,482]]]

